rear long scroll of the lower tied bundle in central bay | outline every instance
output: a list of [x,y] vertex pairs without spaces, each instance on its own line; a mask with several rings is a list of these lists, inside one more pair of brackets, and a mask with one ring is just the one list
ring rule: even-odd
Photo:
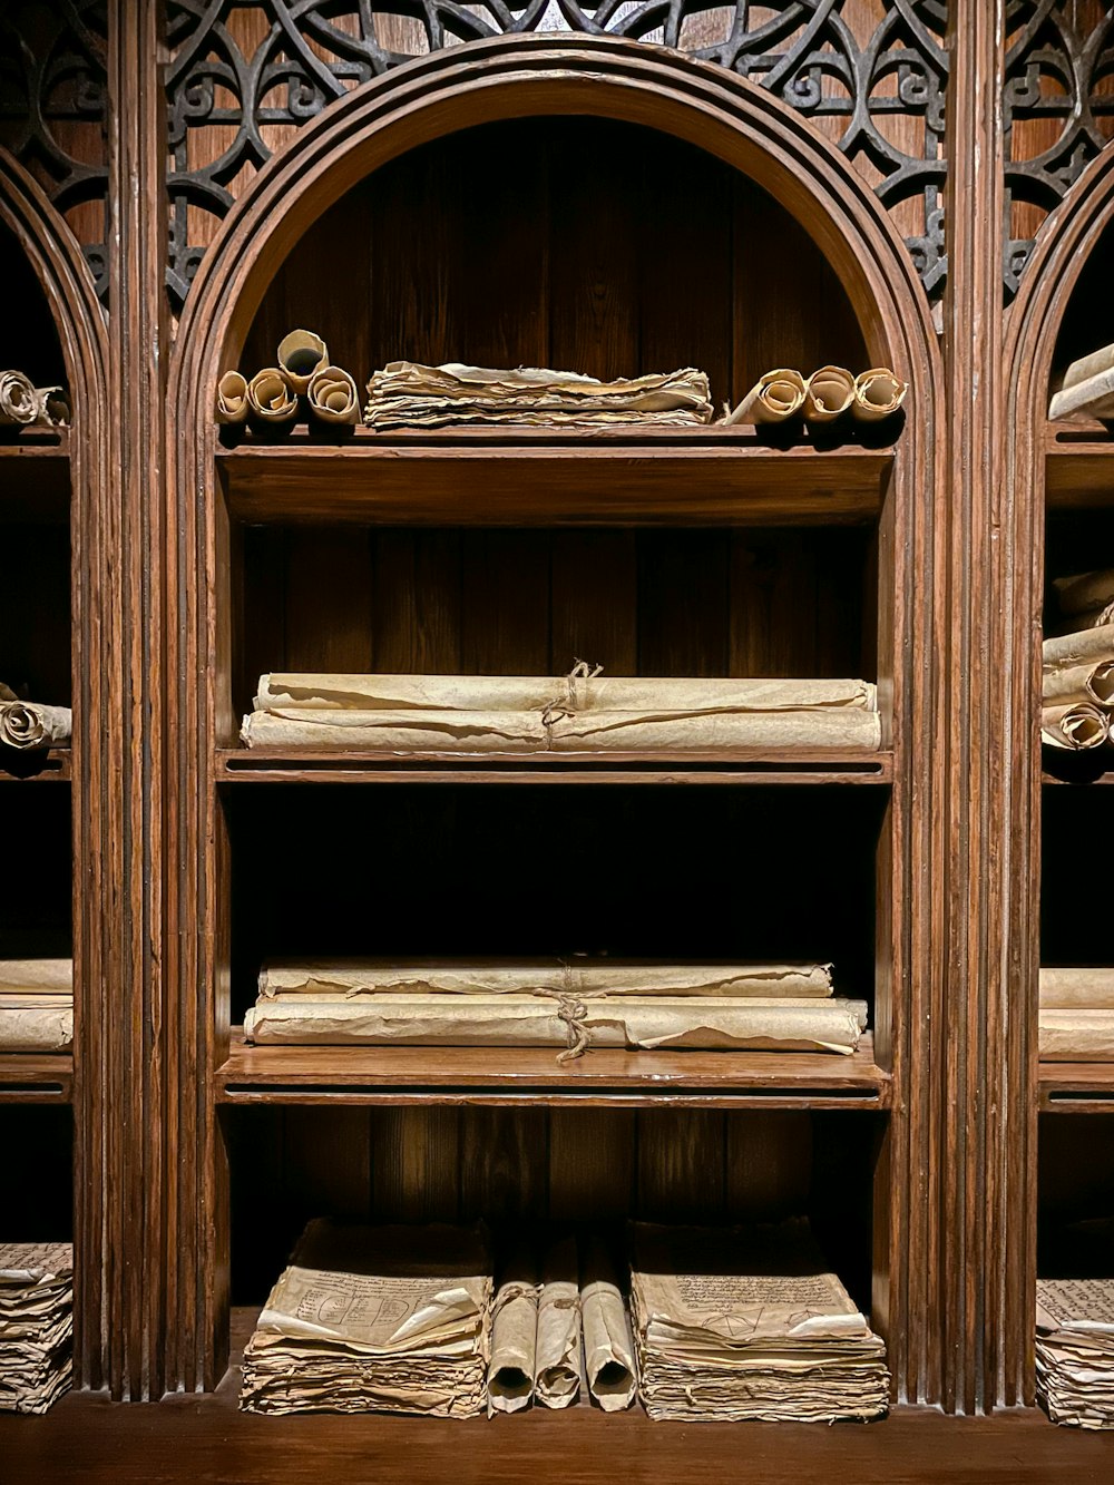
[[[0,967],[1,968],[1,967]],[[364,995],[668,995],[811,999],[832,995],[830,964],[658,964],[643,959],[272,961],[260,999]]]

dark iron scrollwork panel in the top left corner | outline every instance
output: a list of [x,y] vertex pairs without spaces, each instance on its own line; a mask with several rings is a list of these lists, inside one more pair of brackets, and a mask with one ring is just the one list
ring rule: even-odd
[[108,294],[107,6],[0,4],[0,141],[36,177]]

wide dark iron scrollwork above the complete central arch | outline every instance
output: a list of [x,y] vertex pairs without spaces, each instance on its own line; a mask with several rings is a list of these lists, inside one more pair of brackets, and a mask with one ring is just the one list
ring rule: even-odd
[[169,0],[171,297],[181,304],[217,221],[291,128],[413,56],[573,31],[677,48],[808,116],[869,178],[936,298],[945,19],[946,0]]

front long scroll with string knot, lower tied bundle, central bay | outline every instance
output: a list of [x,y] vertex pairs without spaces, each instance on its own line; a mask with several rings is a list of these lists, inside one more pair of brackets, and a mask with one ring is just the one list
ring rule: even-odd
[[362,995],[260,999],[244,1034],[260,1045],[563,1047],[832,1051],[850,1054],[866,1004],[848,999],[685,996]]

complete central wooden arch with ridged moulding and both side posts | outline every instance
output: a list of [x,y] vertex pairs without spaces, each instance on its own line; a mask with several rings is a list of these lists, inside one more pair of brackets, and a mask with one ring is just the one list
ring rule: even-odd
[[[744,79],[677,52],[612,37],[551,37],[524,34],[438,50],[356,89],[299,132],[245,192],[205,255],[186,303],[169,370],[169,426],[178,431],[169,450],[166,490],[169,546],[166,674],[177,677],[168,698],[178,741],[168,748],[168,861],[181,861],[183,875],[168,884],[163,927],[168,1016],[178,1017],[181,1045],[205,1069],[223,1060],[226,1032],[218,1023],[214,986],[218,964],[215,881],[211,855],[198,841],[221,839],[214,806],[215,780],[206,740],[232,737],[227,699],[217,693],[214,674],[221,650],[221,619],[211,578],[190,581],[195,570],[214,573],[223,512],[215,497],[212,391],[218,371],[233,365],[263,294],[304,230],[373,169],[432,138],[475,123],[530,114],[596,114],[640,123],[717,156],[769,192],[810,232],[838,273],[859,316],[869,353],[893,364],[912,385],[908,422],[897,460],[897,515],[891,536],[900,570],[916,581],[899,585],[893,647],[908,652],[911,636],[922,637],[931,653],[933,573],[937,561],[933,509],[940,462],[936,428],[942,417],[942,359],[930,309],[905,245],[864,181],[847,160],[793,110]],[[879,677],[885,685],[887,677]],[[890,1057],[902,1090],[893,1118],[891,1181],[905,1191],[939,1176],[939,1140],[930,1091],[939,1017],[928,1016],[937,993],[943,949],[933,941],[930,873],[900,863],[927,858],[940,849],[930,827],[933,774],[913,747],[927,737],[934,677],[927,667],[906,667],[906,692],[897,708],[894,809],[899,815],[899,860],[890,863],[894,888],[908,894],[913,927],[902,947],[896,974],[905,986],[905,1025],[899,1037],[879,1025],[878,1040]],[[201,744],[201,757],[198,745]],[[918,800],[913,808],[913,799]],[[220,843],[217,849],[221,849]],[[899,873],[905,878],[899,885]],[[175,989],[180,986],[180,989]],[[183,1081],[181,1097],[189,1100]],[[195,1123],[196,1121],[196,1123]],[[196,1130],[198,1161],[183,1160],[171,1179],[181,1213],[193,1213],[193,1234],[180,1234],[168,1264],[180,1264],[169,1280],[180,1301],[181,1375],[186,1388],[212,1386],[226,1351],[224,1289],[227,1255],[214,1250],[214,1204],[224,1197],[206,1172],[218,1160],[215,1121],[202,1091],[186,1109],[181,1129]],[[930,1397],[934,1390],[937,1342],[906,1336],[911,1308],[937,1325],[939,1295],[933,1290],[939,1244],[936,1218],[911,1215],[908,1198],[899,1213],[879,1267],[888,1274],[893,1310],[893,1356],[897,1393]],[[924,1204],[921,1204],[924,1206]],[[918,1225],[919,1224],[919,1225]],[[916,1286],[913,1292],[913,1286]],[[193,1304],[201,1296],[201,1304]],[[881,1301],[879,1301],[881,1304]],[[885,1305],[882,1305],[885,1308]],[[169,1378],[168,1378],[169,1381]]]

